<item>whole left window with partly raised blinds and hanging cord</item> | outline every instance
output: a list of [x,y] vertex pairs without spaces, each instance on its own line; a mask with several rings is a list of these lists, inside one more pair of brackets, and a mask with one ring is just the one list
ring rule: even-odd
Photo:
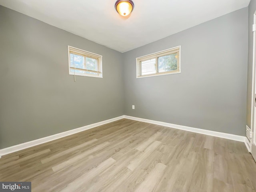
[[102,78],[102,56],[68,46],[69,74]]

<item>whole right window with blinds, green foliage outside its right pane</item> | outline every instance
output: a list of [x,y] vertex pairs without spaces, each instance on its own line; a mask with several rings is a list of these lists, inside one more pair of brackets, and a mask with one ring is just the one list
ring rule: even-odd
[[137,78],[180,73],[180,46],[136,58]]

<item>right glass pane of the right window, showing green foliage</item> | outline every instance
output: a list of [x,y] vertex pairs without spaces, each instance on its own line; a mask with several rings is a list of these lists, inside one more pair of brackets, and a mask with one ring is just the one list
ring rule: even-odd
[[178,54],[170,54],[158,57],[158,72],[175,71],[178,66]]

